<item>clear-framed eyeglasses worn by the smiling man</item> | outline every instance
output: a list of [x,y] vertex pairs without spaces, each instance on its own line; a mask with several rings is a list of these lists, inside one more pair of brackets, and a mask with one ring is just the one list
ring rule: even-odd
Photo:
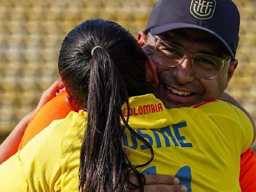
[[193,71],[201,78],[215,78],[223,69],[224,64],[231,61],[231,57],[224,60],[204,53],[193,54],[172,42],[157,38],[150,32],[148,32],[148,35],[154,41],[153,59],[158,64],[167,67],[175,67],[181,64],[185,58],[190,57]]

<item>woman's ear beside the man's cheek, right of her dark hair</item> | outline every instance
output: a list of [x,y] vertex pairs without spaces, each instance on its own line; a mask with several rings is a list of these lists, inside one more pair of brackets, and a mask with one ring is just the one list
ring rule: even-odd
[[146,59],[146,81],[152,88],[156,88],[159,85],[156,64],[150,57]]

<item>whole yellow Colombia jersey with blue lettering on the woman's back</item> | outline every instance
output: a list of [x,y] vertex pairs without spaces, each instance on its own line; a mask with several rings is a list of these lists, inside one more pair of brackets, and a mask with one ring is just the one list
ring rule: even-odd
[[[143,173],[175,175],[188,191],[240,191],[240,154],[252,143],[247,116],[223,101],[165,109],[153,94],[130,97],[129,125],[153,147]],[[78,191],[78,168],[86,112],[54,120],[0,165],[0,191]],[[149,149],[128,130],[124,147],[132,164]]]

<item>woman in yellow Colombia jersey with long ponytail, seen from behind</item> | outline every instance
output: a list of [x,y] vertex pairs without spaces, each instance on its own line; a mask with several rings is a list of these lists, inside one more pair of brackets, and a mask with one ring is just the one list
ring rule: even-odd
[[165,109],[146,94],[144,62],[136,40],[111,21],[88,20],[68,33],[59,73],[81,110],[53,121],[2,163],[0,189],[127,191],[133,171],[142,190],[139,170],[176,174],[187,191],[239,191],[239,156],[252,142],[247,116],[215,100]]

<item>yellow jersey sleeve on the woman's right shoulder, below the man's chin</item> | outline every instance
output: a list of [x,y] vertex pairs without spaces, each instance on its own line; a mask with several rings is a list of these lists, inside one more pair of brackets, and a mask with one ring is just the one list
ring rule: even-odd
[[242,154],[250,147],[253,142],[253,126],[242,110],[222,100],[205,102],[198,108],[221,128],[234,150]]

